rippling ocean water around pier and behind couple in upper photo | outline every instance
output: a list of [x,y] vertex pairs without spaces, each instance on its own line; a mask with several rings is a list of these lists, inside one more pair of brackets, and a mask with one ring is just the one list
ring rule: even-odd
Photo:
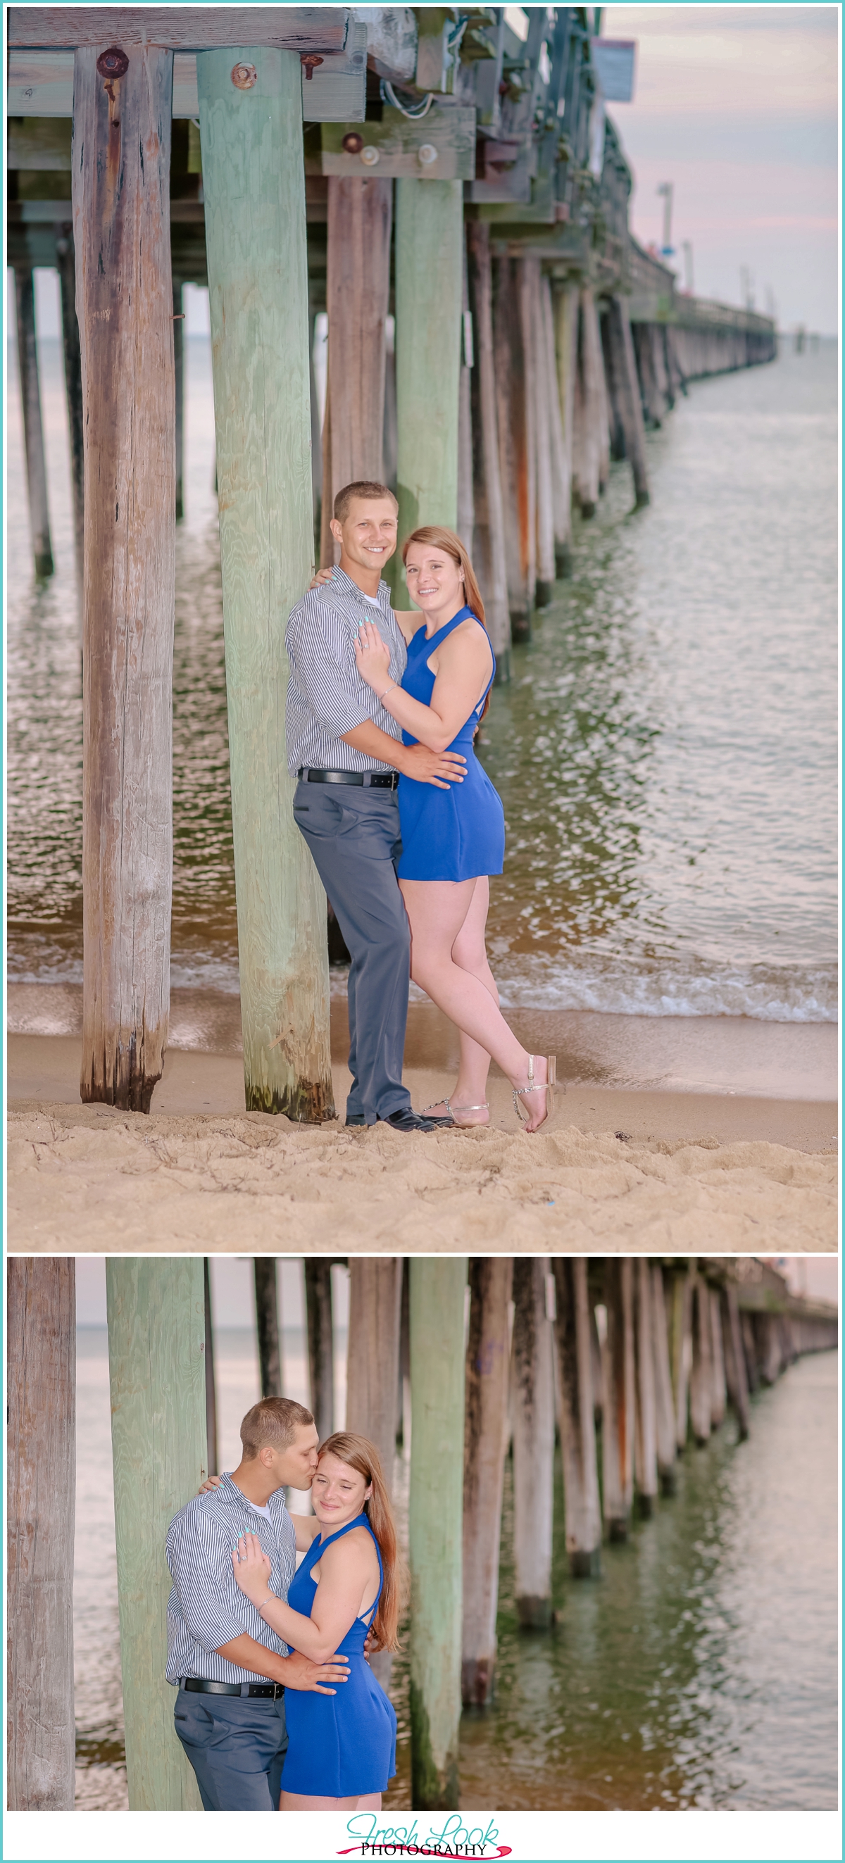
[[[173,984],[236,991],[210,350],[186,345],[175,639]],[[58,572],[28,555],[9,356],[9,976],[82,976],[82,710],[61,358],[41,345]],[[506,866],[503,1002],[836,1019],[838,352],[692,384],[625,464],[480,755]],[[281,619],[279,619],[281,624]]]

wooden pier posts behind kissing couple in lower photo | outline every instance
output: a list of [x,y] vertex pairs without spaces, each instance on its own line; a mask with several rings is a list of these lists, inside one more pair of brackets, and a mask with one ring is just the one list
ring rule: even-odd
[[[130,1809],[190,1809],[164,1682],[164,1541],[205,1479],[216,1427],[203,1259],[127,1256],[106,1274]],[[838,1310],[789,1295],[754,1258],[380,1256],[350,1259],[350,1276],[346,1421],[380,1442],[387,1472],[398,1433],[411,1436],[413,1805],[450,1809],[462,1701],[478,1710],[495,1690],[506,1457],[516,1602],[536,1636],[553,1621],[555,1436],[570,1572],[590,1582],[605,1541],[672,1507],[696,1446],[731,1431],[754,1453],[754,1394],[800,1354],[834,1349]],[[320,1412],[331,1300],[305,1285]],[[264,1282],[257,1297],[266,1334]],[[11,1258],[7,1336],[9,1807],[58,1811],[73,1807],[73,1263]]]

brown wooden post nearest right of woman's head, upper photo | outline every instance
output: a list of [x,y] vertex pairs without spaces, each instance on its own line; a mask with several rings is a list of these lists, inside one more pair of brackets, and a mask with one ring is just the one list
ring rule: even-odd
[[475,563],[484,589],[488,633],[499,684],[510,680],[508,566],[499,466],[499,425],[493,367],[493,274],[490,225],[467,224],[467,283],[473,309],[475,369],[471,371]]

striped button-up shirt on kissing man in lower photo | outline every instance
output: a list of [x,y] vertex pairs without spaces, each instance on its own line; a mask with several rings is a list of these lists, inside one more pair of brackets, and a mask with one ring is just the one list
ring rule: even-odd
[[231,1475],[220,1489],[197,1494],[168,1533],[168,1565],[173,1589],[168,1598],[168,1682],[181,1675],[205,1677],[208,1682],[266,1682],[255,1669],[240,1669],[218,1656],[221,1643],[244,1636],[244,1630],[287,1656],[288,1647],[259,1617],[255,1604],[235,1584],[233,1552],[242,1533],[257,1533],[268,1554],[270,1591],[287,1598],[296,1571],[294,1522],[285,1507],[285,1490],[268,1500],[268,1515],[257,1513]]

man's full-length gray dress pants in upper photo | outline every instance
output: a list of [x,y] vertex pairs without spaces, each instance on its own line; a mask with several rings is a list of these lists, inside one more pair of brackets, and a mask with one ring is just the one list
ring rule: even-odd
[[346,1118],[374,1125],[411,1105],[402,1086],[411,933],[396,883],[396,792],[298,782],[294,818],[352,958]]

